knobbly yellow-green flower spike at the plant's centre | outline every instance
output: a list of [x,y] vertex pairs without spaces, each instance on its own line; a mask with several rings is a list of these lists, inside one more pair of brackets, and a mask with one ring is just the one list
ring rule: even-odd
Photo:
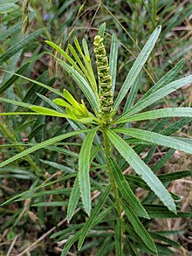
[[113,114],[113,91],[112,78],[109,73],[108,59],[103,40],[104,38],[97,35],[94,38],[93,44],[95,45],[94,52],[99,79],[99,114],[101,121],[107,123],[111,120]]

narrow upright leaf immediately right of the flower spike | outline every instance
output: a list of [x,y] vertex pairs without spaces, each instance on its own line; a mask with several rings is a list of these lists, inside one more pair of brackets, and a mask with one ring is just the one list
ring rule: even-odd
[[114,92],[115,80],[117,74],[117,59],[118,59],[118,40],[117,37],[113,34],[112,36],[112,45],[109,56],[109,71],[112,77],[112,91]]

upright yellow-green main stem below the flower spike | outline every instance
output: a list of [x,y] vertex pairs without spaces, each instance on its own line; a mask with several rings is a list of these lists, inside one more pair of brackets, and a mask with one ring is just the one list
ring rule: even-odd
[[120,216],[121,207],[120,207],[119,192],[118,192],[118,188],[117,188],[117,183],[115,182],[115,178],[113,176],[113,170],[111,169],[110,163],[108,161],[108,157],[110,156],[111,146],[110,146],[109,139],[106,135],[106,131],[104,129],[102,129],[102,134],[103,134],[104,145],[105,145],[106,165],[108,167],[108,174],[109,174],[109,177],[110,177],[111,182],[112,182],[112,187],[113,187],[113,192],[114,192],[114,199],[115,199],[115,203],[117,205],[117,211],[118,211],[118,214]]

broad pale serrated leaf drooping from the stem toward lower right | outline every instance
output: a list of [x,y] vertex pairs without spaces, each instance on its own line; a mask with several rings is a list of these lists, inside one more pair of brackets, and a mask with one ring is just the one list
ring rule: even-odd
[[111,130],[106,130],[106,133],[113,143],[114,147],[120,152],[120,155],[125,158],[135,172],[147,183],[147,185],[154,191],[154,194],[160,198],[161,202],[168,207],[169,211],[176,211],[173,198],[168,193],[168,190],[163,186],[161,181],[154,175],[153,171],[144,163],[140,156],[138,156],[134,149],[132,149],[127,142],[116,135]]

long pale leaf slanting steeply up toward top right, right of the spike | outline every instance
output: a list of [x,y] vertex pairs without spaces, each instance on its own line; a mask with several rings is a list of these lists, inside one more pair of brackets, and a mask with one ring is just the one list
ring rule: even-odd
[[126,96],[128,89],[133,86],[134,81],[136,80],[137,76],[141,72],[141,68],[144,66],[144,64],[147,61],[147,58],[151,51],[154,48],[154,45],[157,41],[157,38],[159,37],[161,32],[161,26],[158,26],[153,34],[150,36],[150,38],[147,40],[146,45],[142,48],[140,55],[137,57],[137,59],[134,61],[134,65],[132,66],[131,70],[127,74],[127,78],[125,82],[123,83],[122,87],[120,88],[120,93],[118,93],[117,99],[114,101],[114,109],[116,110],[120,106],[120,102],[123,100],[123,98]]

